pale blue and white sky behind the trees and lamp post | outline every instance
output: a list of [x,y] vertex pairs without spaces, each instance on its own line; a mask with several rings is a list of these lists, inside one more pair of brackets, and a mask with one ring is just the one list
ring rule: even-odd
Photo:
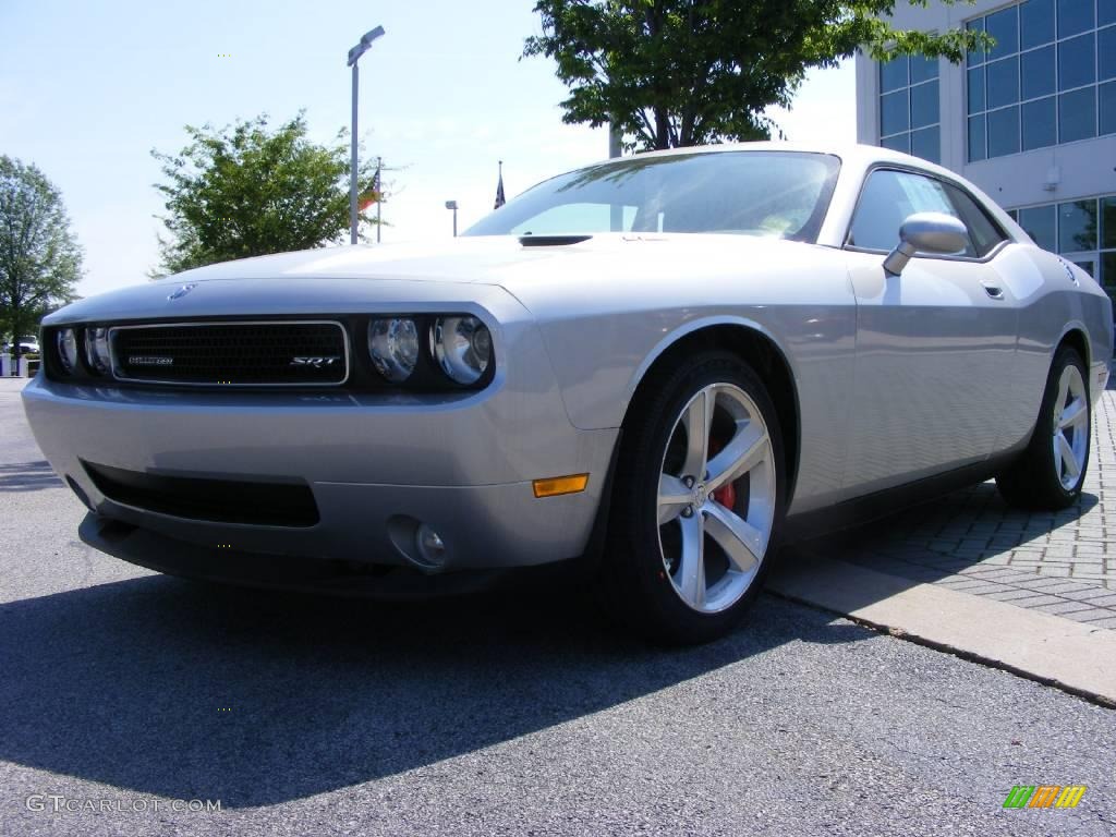
[[[381,25],[360,59],[365,153],[386,175],[383,241],[452,234],[492,210],[498,161],[508,198],[607,156],[603,128],[565,125],[566,88],[546,58],[520,60],[540,33],[533,0],[0,0],[0,154],[33,162],[61,190],[85,248],[78,294],[146,279],[158,261],[151,151],[177,152],[184,125],[221,127],[306,110],[310,136],[348,127],[349,47]],[[811,74],[788,140],[854,142],[853,62]]]

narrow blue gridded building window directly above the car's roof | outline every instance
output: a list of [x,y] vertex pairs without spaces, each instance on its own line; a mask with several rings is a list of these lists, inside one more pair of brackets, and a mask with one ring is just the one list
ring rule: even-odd
[[899,56],[881,64],[879,144],[940,163],[939,102],[936,58]]

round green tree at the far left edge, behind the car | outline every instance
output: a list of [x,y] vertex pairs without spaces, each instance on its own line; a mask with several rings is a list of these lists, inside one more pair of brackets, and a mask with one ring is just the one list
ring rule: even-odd
[[19,340],[74,299],[81,247],[70,231],[61,192],[33,164],[0,156],[0,329]]

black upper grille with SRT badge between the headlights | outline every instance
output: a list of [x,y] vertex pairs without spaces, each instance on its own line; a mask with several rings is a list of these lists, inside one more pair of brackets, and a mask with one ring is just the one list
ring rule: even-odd
[[345,328],[334,321],[119,326],[110,343],[122,381],[336,386],[348,379]]

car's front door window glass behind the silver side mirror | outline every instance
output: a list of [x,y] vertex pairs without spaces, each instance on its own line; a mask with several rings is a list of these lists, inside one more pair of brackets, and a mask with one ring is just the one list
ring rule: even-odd
[[[887,252],[898,243],[903,222],[916,212],[944,212],[961,218],[943,183],[911,172],[877,169],[864,185],[848,243]],[[971,243],[965,248],[965,256],[975,252]]]

